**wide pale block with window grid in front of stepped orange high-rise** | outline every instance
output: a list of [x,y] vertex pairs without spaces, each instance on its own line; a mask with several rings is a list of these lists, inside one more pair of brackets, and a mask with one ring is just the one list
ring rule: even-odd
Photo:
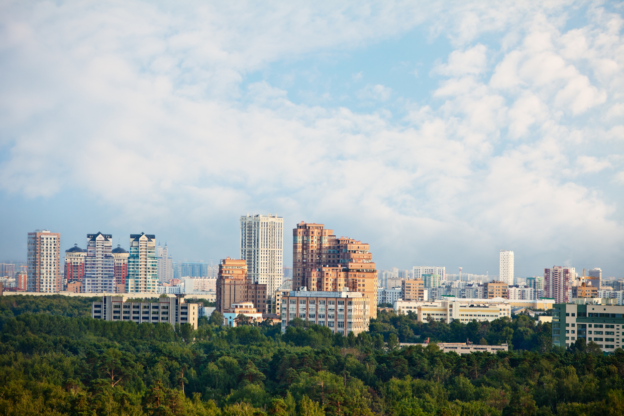
[[377,309],[362,292],[290,291],[281,299],[281,330],[292,319],[300,318],[326,326],[334,334],[347,336],[368,331],[371,311]]

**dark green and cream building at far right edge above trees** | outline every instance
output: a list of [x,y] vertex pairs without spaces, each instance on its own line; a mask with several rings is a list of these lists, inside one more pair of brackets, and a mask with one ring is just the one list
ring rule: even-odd
[[595,342],[602,351],[613,353],[622,347],[624,306],[608,304],[555,304],[552,314],[552,343],[569,347],[579,338]]

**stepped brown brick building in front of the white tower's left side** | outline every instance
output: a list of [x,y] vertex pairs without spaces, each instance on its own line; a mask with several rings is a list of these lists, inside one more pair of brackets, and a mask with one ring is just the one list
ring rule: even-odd
[[252,302],[261,313],[266,313],[266,284],[252,283],[247,277],[247,263],[243,259],[225,258],[219,264],[217,278],[217,311],[231,309],[240,302]]

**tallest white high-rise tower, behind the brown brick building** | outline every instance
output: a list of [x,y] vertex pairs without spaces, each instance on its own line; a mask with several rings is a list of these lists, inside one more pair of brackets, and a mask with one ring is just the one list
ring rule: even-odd
[[240,217],[240,258],[247,262],[247,278],[266,284],[267,310],[276,313],[275,291],[281,286],[284,218],[277,215]]

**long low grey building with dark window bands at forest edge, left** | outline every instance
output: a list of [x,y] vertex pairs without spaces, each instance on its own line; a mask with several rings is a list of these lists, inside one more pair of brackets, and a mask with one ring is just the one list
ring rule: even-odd
[[175,326],[191,324],[197,329],[198,304],[183,297],[158,297],[157,302],[124,302],[122,296],[102,296],[91,304],[91,317],[104,321],[152,322]]

